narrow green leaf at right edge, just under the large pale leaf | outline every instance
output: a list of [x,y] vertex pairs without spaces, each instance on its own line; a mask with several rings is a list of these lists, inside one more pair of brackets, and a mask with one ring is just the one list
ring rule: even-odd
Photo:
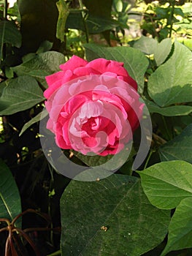
[[154,102],[144,99],[150,113],[159,113],[163,116],[187,116],[192,112],[191,106],[177,105],[171,107],[160,108]]

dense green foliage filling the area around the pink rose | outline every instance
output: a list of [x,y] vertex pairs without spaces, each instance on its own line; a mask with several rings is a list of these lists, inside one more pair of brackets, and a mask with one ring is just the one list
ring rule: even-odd
[[[191,12],[191,1],[0,1],[0,255],[191,255]],[[73,54],[123,62],[137,81],[153,138],[136,172],[139,129],[100,181],[47,162],[45,76]]]

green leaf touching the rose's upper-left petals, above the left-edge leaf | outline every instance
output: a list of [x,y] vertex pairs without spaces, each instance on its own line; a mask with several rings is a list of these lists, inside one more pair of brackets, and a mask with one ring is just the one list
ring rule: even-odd
[[36,56],[29,56],[28,61],[19,66],[12,67],[12,70],[18,75],[30,75],[43,86],[47,87],[45,76],[59,70],[59,65],[65,62],[64,55],[55,51],[39,53]]

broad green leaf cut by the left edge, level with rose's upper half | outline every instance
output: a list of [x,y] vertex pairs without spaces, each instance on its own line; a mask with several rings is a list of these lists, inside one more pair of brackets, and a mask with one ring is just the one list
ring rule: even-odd
[[0,101],[4,103],[0,115],[12,115],[27,110],[45,98],[37,81],[29,76],[20,76],[1,83]]

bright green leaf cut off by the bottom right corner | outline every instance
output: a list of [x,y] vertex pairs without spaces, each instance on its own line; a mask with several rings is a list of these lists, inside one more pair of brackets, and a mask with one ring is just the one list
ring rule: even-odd
[[183,199],[177,206],[169,224],[169,236],[161,256],[170,251],[192,247],[192,197]]

